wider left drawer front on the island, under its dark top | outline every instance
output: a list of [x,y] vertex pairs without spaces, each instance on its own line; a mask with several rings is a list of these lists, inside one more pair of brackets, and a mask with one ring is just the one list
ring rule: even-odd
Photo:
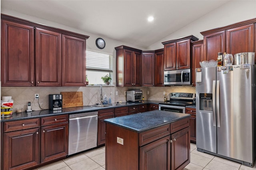
[[171,134],[170,124],[140,133],[139,146],[154,142],[164,136]]

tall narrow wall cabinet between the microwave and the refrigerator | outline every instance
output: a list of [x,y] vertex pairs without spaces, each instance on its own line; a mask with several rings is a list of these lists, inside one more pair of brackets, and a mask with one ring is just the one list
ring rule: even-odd
[[192,86],[196,86],[196,68],[200,68],[200,61],[204,60],[204,42],[203,40],[198,40],[192,42],[192,68],[191,68],[191,79]]

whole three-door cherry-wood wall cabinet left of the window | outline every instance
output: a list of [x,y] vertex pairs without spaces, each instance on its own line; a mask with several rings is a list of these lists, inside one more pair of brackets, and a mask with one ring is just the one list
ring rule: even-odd
[[86,85],[89,36],[4,14],[1,22],[2,86]]

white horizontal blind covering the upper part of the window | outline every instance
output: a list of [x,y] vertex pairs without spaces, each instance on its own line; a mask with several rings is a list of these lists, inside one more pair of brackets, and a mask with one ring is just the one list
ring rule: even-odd
[[113,56],[86,51],[86,69],[113,71]]

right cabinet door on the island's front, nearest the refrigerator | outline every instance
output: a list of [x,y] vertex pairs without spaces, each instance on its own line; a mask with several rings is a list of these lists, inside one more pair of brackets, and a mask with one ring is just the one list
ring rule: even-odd
[[190,162],[190,130],[189,127],[171,134],[171,170],[181,170]]

